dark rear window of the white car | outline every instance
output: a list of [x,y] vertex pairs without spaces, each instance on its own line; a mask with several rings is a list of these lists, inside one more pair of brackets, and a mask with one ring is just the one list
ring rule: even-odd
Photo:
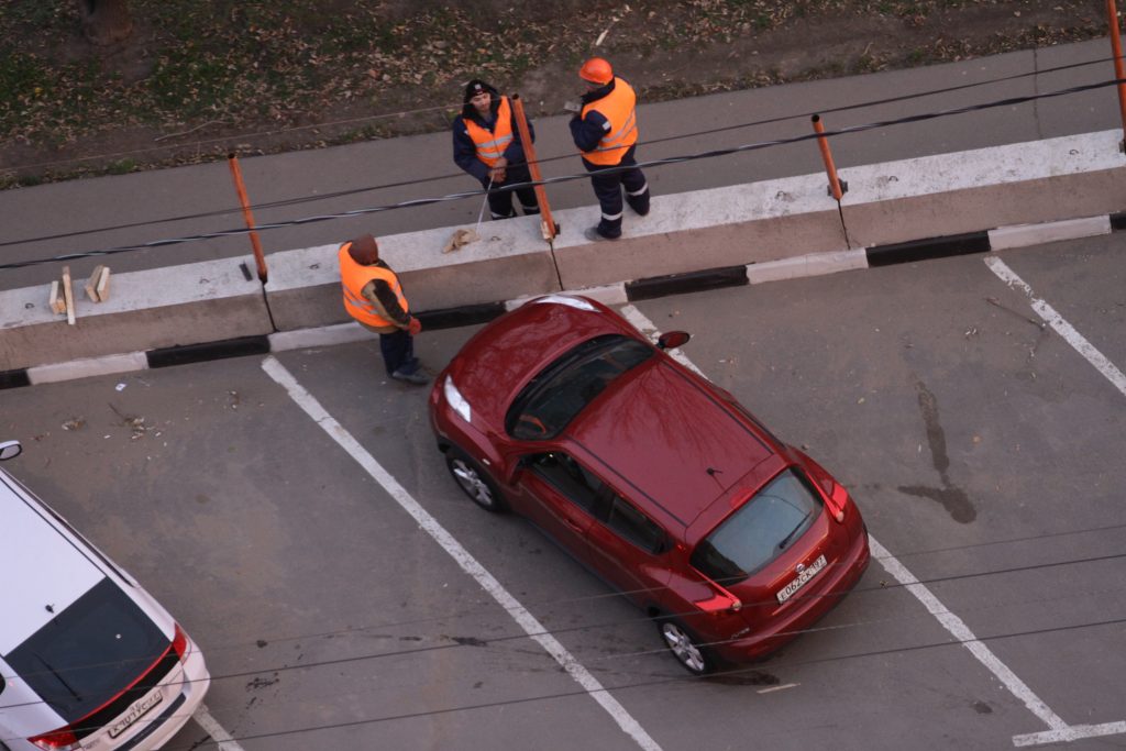
[[70,723],[131,686],[168,645],[157,624],[102,579],[5,660]]

